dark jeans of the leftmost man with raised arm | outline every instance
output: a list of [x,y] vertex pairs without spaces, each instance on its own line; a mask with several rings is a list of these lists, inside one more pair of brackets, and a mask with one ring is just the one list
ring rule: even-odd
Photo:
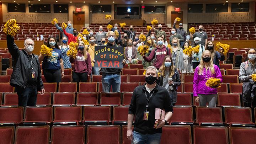
[[16,92],[18,95],[18,106],[36,106],[37,101],[37,88],[26,87],[17,87]]

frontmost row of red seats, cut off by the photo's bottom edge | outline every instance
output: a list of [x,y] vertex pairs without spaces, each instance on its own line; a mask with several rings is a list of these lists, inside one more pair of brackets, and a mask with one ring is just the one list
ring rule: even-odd
[[[49,126],[3,127],[3,142],[15,144],[130,144],[127,126]],[[256,128],[164,126],[160,144],[242,144],[255,142]],[[14,136],[15,135],[15,136]],[[26,135],[26,137],[24,137]],[[104,135],[104,136],[103,136]],[[193,140],[192,140],[193,138]],[[51,139],[49,141],[49,139]]]

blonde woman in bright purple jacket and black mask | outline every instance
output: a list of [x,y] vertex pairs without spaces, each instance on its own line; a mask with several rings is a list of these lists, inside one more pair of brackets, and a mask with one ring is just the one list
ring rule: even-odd
[[213,64],[213,58],[209,50],[205,50],[202,54],[200,64],[194,72],[193,96],[200,106],[216,107],[217,89],[206,86],[208,78],[213,77],[220,79],[222,82],[222,74],[219,67]]

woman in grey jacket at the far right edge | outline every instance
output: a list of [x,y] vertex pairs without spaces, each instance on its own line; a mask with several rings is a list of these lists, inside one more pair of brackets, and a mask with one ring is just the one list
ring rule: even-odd
[[[247,51],[248,58],[246,62],[241,63],[240,70],[239,70],[239,79],[243,82],[243,101],[245,107],[256,107],[256,98],[255,96],[253,99],[251,98],[251,84],[255,83],[255,73],[256,73],[256,49],[251,48]],[[249,87],[249,89],[247,89]]]

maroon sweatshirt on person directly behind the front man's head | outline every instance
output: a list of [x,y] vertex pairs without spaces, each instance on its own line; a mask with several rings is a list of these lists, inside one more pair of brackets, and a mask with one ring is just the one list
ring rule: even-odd
[[162,62],[164,60],[164,57],[167,54],[170,55],[170,57],[172,55],[169,48],[166,48],[165,46],[162,47],[162,48],[156,46],[156,50],[153,49],[148,57],[143,56],[143,58],[146,60],[146,62],[151,62],[155,58],[155,63],[153,65],[157,69],[159,69],[162,66]]

